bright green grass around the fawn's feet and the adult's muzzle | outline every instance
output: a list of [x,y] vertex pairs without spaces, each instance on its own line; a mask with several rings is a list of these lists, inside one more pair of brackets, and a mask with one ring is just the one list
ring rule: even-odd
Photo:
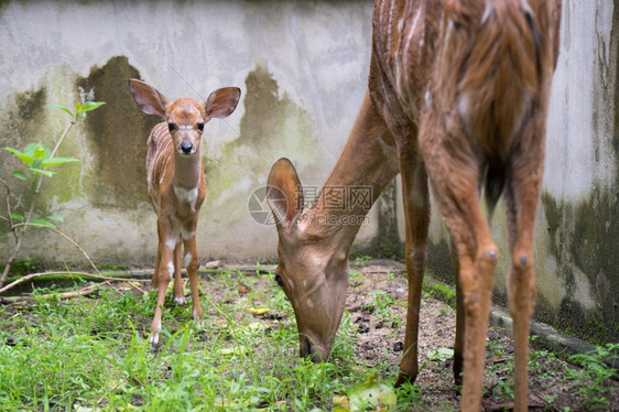
[[[203,297],[199,325],[166,302],[155,350],[154,293],[106,289],[97,299],[0,306],[0,410],[330,410],[334,394],[370,375],[352,354],[357,329],[345,314],[333,362],[300,359],[292,308],[271,279],[207,280],[222,293]],[[256,286],[264,281],[268,290]],[[258,304],[274,319],[245,311]]]

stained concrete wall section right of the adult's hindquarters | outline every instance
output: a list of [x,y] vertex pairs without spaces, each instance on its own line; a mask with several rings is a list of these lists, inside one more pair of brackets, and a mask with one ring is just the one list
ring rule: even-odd
[[[537,257],[554,324],[619,340],[619,1],[567,2]],[[585,330],[585,333],[587,333]]]

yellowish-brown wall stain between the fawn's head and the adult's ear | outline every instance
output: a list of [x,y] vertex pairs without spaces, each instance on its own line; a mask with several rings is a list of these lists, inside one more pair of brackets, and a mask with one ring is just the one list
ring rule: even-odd
[[[297,169],[304,169],[311,167],[321,152],[311,116],[286,94],[281,96],[278,82],[265,65],[257,64],[247,75],[241,100],[245,113],[238,138],[221,144],[220,156],[207,155],[205,169],[207,205],[220,206],[228,199],[238,202],[239,207],[228,204],[228,213],[248,218],[249,194],[267,184],[269,170],[276,159],[289,156]],[[236,187],[241,182],[249,187]],[[239,191],[247,193],[240,197],[229,196]]]

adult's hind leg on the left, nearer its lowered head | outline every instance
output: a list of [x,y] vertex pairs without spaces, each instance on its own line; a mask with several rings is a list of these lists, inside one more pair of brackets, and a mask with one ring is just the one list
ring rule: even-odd
[[[475,158],[466,145],[466,137],[457,135],[457,129],[445,130],[442,118],[427,116],[420,130],[420,145],[434,197],[452,238],[453,253],[457,256],[456,277],[461,292],[458,315],[464,317],[464,324],[459,325],[463,339],[456,343],[455,350],[456,362],[457,356],[463,356],[460,408],[478,411],[498,250],[479,203],[479,165],[470,160]],[[448,147],[453,141],[464,142],[460,151],[454,152]],[[473,158],[463,155],[461,151],[470,151],[467,154]]]

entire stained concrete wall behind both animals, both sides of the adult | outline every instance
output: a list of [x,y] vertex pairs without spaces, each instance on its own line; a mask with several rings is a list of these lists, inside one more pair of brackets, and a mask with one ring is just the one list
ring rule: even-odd
[[[205,98],[235,85],[241,104],[207,126],[208,197],[199,225],[203,260],[273,259],[275,230],[248,213],[271,164],[290,158],[306,185],[335,164],[366,89],[371,1],[0,3],[0,147],[53,145],[68,118],[47,102],[107,101],[80,122],[62,155],[82,160],[44,183],[41,214],[97,261],[151,264],[155,218],[148,203],[144,141],[159,121],[127,90],[138,77],[169,97]],[[536,229],[537,317],[599,339],[619,337],[618,0],[564,1],[561,55],[547,126],[544,193]],[[0,153],[13,204],[28,200]],[[398,238],[392,186],[370,213],[357,247]],[[379,213],[380,210],[380,213]],[[0,259],[12,238],[0,224]],[[400,239],[403,238],[400,226]],[[492,234],[501,250],[497,296],[504,299],[509,256],[504,214]],[[377,249],[374,249],[377,250]],[[80,261],[53,234],[30,230],[21,258]],[[453,279],[437,214],[432,270]]]

